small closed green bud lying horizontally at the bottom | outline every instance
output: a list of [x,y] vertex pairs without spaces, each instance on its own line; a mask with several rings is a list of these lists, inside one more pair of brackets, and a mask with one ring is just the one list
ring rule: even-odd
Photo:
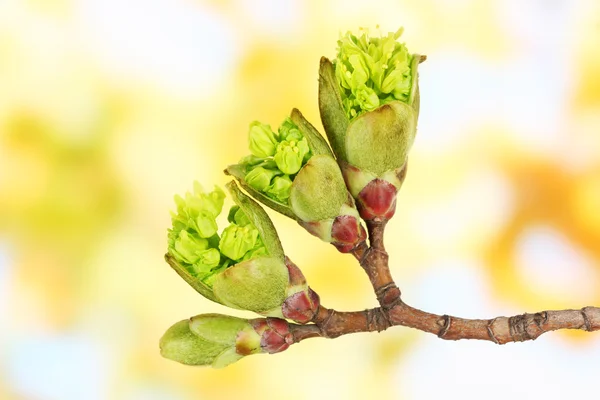
[[171,326],[160,339],[163,357],[223,368],[245,356],[279,353],[294,343],[285,320],[201,314]]

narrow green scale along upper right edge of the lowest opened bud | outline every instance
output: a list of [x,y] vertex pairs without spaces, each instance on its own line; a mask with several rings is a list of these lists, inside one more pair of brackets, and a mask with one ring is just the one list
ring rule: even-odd
[[257,202],[242,193],[235,181],[229,182],[225,185],[225,187],[231,194],[231,198],[235,204],[240,207],[248,220],[250,220],[252,225],[254,225],[254,227],[258,230],[260,238],[262,239],[263,244],[267,248],[269,254],[273,257],[283,260],[285,257],[283,247],[279,241],[279,236],[277,235],[275,226],[273,226],[273,222],[271,222],[271,219],[265,210],[263,210],[263,208]]

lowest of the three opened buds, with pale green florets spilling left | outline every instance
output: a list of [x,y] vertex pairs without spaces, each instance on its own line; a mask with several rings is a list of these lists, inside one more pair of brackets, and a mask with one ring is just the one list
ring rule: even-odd
[[[167,263],[212,301],[265,316],[309,322],[319,308],[319,296],[285,257],[275,227],[262,207],[243,194],[235,182],[227,189],[236,205],[229,211],[229,225],[221,235],[216,225],[225,197],[221,189],[205,193],[196,183],[193,194],[176,197]],[[210,215],[207,225],[213,229],[199,228],[198,215]]]

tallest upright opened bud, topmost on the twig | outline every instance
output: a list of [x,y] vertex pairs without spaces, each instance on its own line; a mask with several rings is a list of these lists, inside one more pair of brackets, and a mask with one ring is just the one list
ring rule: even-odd
[[406,175],[419,115],[417,68],[397,39],[348,32],[337,58],[323,57],[319,109],[325,132],[363,219],[388,220]]

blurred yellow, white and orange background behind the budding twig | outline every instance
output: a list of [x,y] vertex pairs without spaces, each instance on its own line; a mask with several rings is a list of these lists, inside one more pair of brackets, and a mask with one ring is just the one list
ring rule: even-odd
[[[600,2],[0,0],[0,398],[586,396],[600,336],[315,339],[223,370],[164,360],[172,323],[230,311],[163,262],[173,195],[247,152],[252,120],[317,126],[340,32],[405,27],[421,116],[388,229],[405,300],[488,318],[600,305]],[[270,213],[323,303],[364,273]],[[589,396],[587,396],[589,397]]]

